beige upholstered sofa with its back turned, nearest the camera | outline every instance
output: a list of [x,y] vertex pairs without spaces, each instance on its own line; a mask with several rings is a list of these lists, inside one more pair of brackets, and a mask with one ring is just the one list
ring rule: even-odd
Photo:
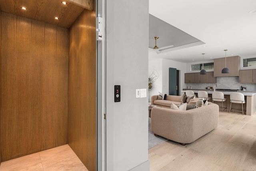
[[215,129],[218,120],[219,106],[214,103],[186,111],[153,107],[151,131],[185,145]]

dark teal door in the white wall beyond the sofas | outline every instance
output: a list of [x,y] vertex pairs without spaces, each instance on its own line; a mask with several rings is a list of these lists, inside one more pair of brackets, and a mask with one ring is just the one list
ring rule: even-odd
[[177,69],[169,68],[169,95],[177,95]]

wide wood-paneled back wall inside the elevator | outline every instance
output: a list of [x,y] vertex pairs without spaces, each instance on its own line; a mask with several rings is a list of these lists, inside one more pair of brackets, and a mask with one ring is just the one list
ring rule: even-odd
[[68,30],[2,12],[2,161],[67,143]]

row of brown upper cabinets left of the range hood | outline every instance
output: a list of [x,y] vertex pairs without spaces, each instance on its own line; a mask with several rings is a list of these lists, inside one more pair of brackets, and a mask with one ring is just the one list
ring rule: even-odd
[[199,72],[185,73],[185,83],[216,83],[216,77],[214,72],[206,72],[206,75]]

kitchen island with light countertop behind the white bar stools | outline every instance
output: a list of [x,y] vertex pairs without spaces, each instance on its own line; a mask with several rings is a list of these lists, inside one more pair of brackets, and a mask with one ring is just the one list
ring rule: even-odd
[[[188,89],[183,89],[181,91],[182,95],[186,92],[186,90],[188,90]],[[198,91],[206,91],[208,93],[209,97],[212,97],[212,92],[214,91],[212,89],[189,89],[189,90],[194,91],[196,96],[197,96]],[[223,106],[227,107],[227,111],[229,111],[229,109],[230,109],[230,93],[232,93],[234,91],[221,91],[221,92],[224,93],[224,97],[227,99],[227,103],[224,102]],[[246,115],[254,114],[256,112],[256,91],[235,91],[235,92],[244,94],[244,98],[246,100],[246,103],[244,104],[244,109],[246,108]],[[214,103],[217,103],[218,105],[221,104],[221,102],[219,104],[218,101],[214,101]],[[232,108],[242,110],[241,104],[238,104],[238,103],[232,103]]]

